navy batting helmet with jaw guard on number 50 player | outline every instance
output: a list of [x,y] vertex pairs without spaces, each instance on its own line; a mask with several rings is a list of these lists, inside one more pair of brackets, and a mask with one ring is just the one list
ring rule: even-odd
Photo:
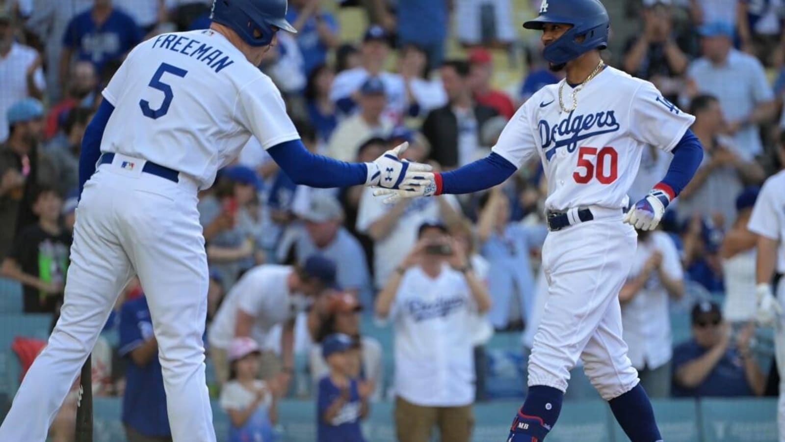
[[[547,23],[572,25],[542,51],[542,57],[553,64],[567,63],[590,50],[608,47],[611,20],[599,0],[542,0],[539,17],[524,23],[524,28],[542,29]],[[581,35],[583,41],[576,41]]]

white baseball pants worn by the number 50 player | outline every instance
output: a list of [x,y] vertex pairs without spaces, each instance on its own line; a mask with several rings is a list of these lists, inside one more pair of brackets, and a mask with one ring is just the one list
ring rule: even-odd
[[566,391],[578,358],[604,400],[638,383],[622,340],[619,289],[637,247],[621,209],[590,208],[594,219],[550,232],[542,248],[548,281],[528,363],[528,385]]

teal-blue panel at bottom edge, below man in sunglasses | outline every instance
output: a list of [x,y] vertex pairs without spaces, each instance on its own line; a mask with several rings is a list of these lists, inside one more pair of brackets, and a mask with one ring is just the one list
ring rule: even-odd
[[777,440],[776,399],[703,399],[699,410],[704,442]]

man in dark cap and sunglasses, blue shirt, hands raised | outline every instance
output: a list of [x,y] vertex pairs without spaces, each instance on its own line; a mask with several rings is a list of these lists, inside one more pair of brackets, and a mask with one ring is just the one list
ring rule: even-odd
[[761,396],[765,375],[750,352],[754,322],[732,340],[719,305],[701,301],[692,308],[692,338],[674,348],[677,397]]

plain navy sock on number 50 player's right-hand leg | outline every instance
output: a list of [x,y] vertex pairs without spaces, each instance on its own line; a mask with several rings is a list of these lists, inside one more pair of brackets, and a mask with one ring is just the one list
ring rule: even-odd
[[632,442],[657,442],[662,441],[659,435],[657,422],[654,420],[654,410],[649,402],[646,391],[641,384],[615,399],[608,401],[616,422],[622,426],[624,433]]

